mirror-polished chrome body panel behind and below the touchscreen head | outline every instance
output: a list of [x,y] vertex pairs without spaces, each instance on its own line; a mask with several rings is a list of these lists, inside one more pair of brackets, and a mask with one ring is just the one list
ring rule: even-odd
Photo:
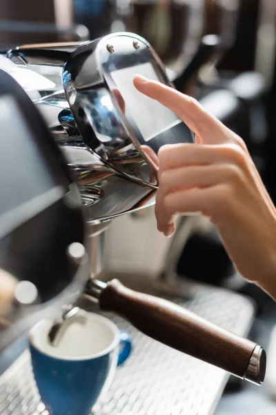
[[[117,169],[108,165],[106,160],[83,142],[62,84],[63,64],[77,46],[79,44],[72,43],[27,45],[10,50],[8,57],[22,70],[26,68],[34,71],[52,82],[47,90],[42,82],[41,86],[37,84],[40,98],[35,100],[35,103],[77,178],[86,220],[91,223],[100,223],[120,214],[152,205],[155,203],[155,189],[152,186],[138,183],[132,178],[130,180],[130,175],[121,174]],[[117,158],[117,164],[124,165],[125,171],[128,169],[131,172],[133,172],[131,166],[134,165],[135,160],[137,174],[139,169],[144,168],[142,165],[148,165],[140,154],[140,161],[138,161],[137,154],[134,156],[132,151],[127,151],[127,157],[124,157],[124,154],[118,154]]]

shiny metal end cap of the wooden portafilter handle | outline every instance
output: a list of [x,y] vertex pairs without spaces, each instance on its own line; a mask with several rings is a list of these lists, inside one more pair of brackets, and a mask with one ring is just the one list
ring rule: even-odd
[[260,346],[257,346],[250,358],[244,379],[249,380],[256,385],[262,385],[266,367],[266,352]]

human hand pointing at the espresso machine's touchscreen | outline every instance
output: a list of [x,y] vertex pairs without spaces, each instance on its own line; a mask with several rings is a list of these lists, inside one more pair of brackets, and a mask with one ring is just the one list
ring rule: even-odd
[[193,98],[138,76],[134,84],[196,136],[159,150],[158,229],[168,236],[177,215],[208,216],[239,273],[276,298],[276,210],[244,141]]

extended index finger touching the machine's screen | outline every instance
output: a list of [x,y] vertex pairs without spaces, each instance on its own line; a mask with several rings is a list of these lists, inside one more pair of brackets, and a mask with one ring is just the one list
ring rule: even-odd
[[139,92],[175,112],[188,128],[199,136],[202,143],[219,144],[230,141],[225,133],[227,127],[208,113],[194,98],[140,75],[135,76],[133,83]]

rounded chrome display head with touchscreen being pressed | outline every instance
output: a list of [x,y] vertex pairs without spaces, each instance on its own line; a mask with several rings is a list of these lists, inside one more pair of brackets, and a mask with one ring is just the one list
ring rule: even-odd
[[[164,144],[193,142],[193,136],[172,111],[154,100],[146,107],[148,101],[132,87],[135,73],[143,72],[172,86],[163,64],[145,39],[132,33],[116,33],[72,52],[63,67],[63,87],[77,127],[92,151],[124,176],[156,187],[157,179],[143,146],[157,152]],[[150,133],[148,126],[145,129],[148,117]]]

